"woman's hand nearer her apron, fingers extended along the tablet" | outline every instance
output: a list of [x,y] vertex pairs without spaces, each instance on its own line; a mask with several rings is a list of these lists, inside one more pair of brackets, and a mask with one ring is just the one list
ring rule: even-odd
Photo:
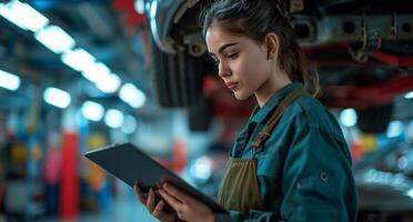
[[180,191],[172,184],[163,184],[159,193],[177,211],[179,219],[187,222],[214,221],[214,214],[209,206]]

